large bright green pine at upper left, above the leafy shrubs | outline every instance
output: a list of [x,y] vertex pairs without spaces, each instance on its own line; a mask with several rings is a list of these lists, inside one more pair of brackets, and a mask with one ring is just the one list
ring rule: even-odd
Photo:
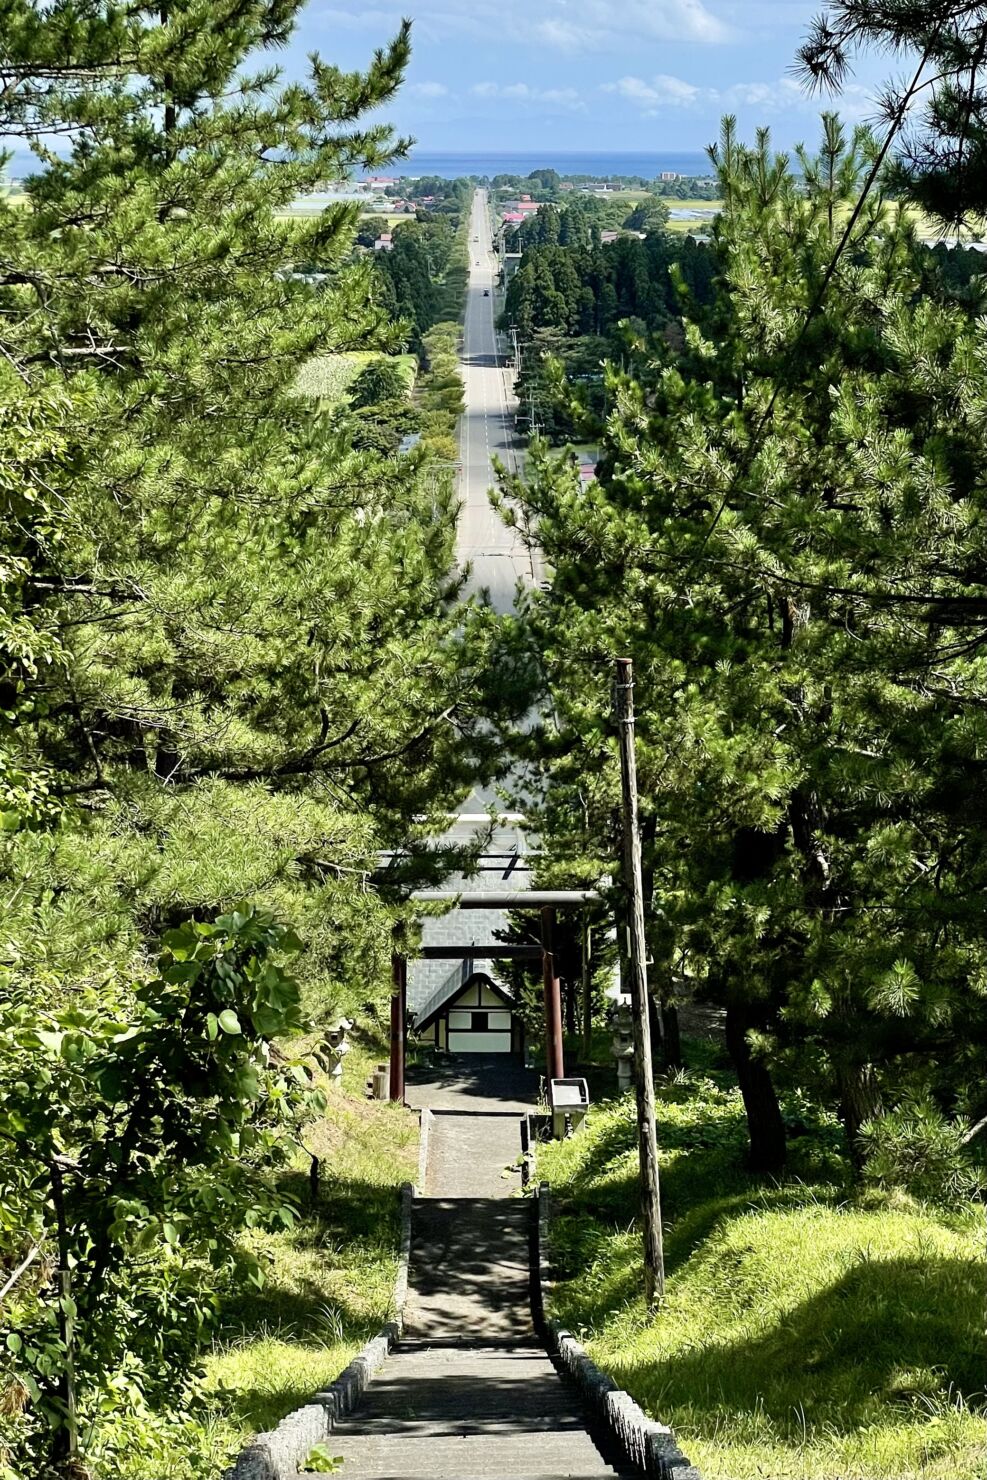
[[[312,352],[401,343],[352,256],[355,207],[290,206],[400,151],[361,118],[394,95],[408,34],[366,74],[244,74],[297,9],[0,15],[3,132],[38,155],[27,209],[0,203],[6,589],[37,648],[10,659],[9,767],[71,798],[108,876],[80,869],[74,829],[25,839],[10,872],[55,889],[56,916],[99,900],[123,959],[262,881],[296,903],[299,881],[337,889],[336,866],[358,881],[469,776],[484,679],[453,613],[448,478],[354,451],[294,394]],[[278,847],[249,863],[266,824]],[[34,887],[13,897],[28,956],[101,969],[105,937],[75,959],[86,932],[38,931]]]

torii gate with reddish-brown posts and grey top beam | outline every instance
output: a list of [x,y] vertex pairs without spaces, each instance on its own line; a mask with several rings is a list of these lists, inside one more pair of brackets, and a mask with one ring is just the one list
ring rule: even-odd
[[[414,895],[422,904],[447,904],[454,900],[460,910],[539,910],[542,916],[542,943],[488,946],[422,946],[425,961],[463,961],[466,956],[485,956],[502,961],[524,961],[542,958],[542,989],[545,999],[545,1069],[549,1079],[564,1079],[562,1057],[562,993],[555,966],[555,910],[561,904],[593,904],[599,900],[596,889],[478,889],[463,894],[459,889],[428,889]],[[395,952],[391,958],[391,1080],[389,1097],[404,1101],[405,1021],[407,1021],[407,956]]]

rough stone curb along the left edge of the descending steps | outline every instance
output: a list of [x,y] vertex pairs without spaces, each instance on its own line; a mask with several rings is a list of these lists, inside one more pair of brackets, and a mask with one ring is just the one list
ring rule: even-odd
[[[408,1294],[408,1261],[411,1257],[411,1197],[410,1183],[401,1187],[401,1251],[394,1282],[395,1319],[358,1351],[348,1368],[323,1393],[315,1393],[305,1407],[287,1413],[277,1428],[257,1434],[241,1450],[223,1480],[297,1480],[299,1465],[315,1444],[326,1443],[333,1424],[352,1413],[370,1379],[380,1370],[388,1353],[401,1336],[404,1302]],[[678,1480],[678,1477],[676,1477]]]

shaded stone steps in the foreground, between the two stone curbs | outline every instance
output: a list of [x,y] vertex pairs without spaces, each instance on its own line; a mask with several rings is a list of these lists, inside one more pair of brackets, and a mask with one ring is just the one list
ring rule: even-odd
[[537,1342],[525,1202],[419,1197],[404,1336],[333,1428],[343,1480],[611,1480],[579,1397]]

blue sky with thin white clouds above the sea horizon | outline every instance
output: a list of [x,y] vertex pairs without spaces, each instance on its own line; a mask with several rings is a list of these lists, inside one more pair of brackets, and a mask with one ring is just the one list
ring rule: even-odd
[[[308,50],[358,67],[414,21],[414,55],[388,118],[422,149],[701,149],[724,112],[815,142],[823,104],[790,77],[820,0],[312,0],[287,70]],[[841,112],[873,115],[886,58],[860,70]]]

